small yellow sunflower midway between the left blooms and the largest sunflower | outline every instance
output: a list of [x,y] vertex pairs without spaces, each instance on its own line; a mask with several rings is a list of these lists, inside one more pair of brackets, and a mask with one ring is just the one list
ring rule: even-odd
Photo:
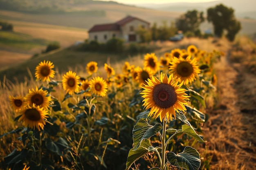
[[106,83],[106,81],[102,78],[102,77],[94,77],[91,81],[90,81],[90,88],[92,93],[94,93],[95,95],[99,95],[99,96],[106,96],[107,91],[108,91],[108,85]]

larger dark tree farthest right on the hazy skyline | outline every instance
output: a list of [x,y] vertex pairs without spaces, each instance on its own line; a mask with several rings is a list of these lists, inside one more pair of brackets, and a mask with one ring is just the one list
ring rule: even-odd
[[223,4],[207,9],[207,20],[213,23],[214,34],[221,37],[226,30],[226,37],[233,41],[241,29],[241,24],[234,16],[234,9]]

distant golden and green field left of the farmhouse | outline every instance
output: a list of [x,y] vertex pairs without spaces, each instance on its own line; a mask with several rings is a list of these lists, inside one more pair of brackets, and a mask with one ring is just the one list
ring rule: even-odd
[[49,42],[67,47],[88,38],[86,29],[8,20],[13,32],[0,31],[0,70],[40,53]]

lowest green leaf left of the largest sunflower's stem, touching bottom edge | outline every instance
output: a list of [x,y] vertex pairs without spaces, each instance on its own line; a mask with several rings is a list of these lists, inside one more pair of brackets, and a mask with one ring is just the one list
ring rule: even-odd
[[137,150],[130,149],[127,157],[127,162],[126,162],[126,169],[128,170],[130,166],[137,161],[140,157],[148,153],[148,147],[150,147],[150,140],[146,139],[141,142],[139,148]]

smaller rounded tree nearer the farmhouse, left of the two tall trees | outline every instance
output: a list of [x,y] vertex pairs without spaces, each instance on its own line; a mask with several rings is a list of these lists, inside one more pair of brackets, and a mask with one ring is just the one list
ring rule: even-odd
[[204,22],[203,14],[203,12],[198,12],[197,10],[187,11],[176,20],[177,29],[184,33],[188,31],[195,32],[199,29],[200,24]]

